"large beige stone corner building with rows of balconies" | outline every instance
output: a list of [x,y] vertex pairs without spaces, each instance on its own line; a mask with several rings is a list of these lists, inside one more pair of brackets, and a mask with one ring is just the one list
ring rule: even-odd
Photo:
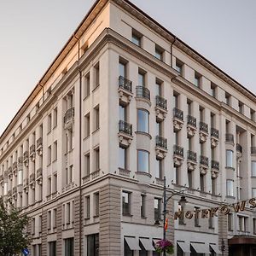
[[[159,255],[164,176],[186,210],[256,196],[255,102],[132,3],[96,1],[0,138],[0,195],[32,217],[32,255]],[[176,255],[256,255],[253,209],[174,221],[179,198]]]

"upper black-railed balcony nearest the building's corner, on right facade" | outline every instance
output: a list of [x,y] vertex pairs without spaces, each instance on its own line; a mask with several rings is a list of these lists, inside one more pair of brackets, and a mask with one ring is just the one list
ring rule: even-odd
[[132,93],[132,82],[128,79],[125,79],[122,76],[119,76],[119,101],[127,105],[131,102],[131,98],[133,96]]

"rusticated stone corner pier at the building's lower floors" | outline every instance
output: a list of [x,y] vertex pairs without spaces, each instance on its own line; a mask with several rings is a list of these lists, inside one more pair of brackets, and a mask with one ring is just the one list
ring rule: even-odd
[[106,185],[100,190],[100,256],[121,255],[121,192]]

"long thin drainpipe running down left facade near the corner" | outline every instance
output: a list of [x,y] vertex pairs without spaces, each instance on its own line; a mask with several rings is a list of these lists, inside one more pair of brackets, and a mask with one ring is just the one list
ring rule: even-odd
[[[79,56],[80,59],[80,40],[76,35],[73,38],[77,39],[79,43]],[[79,256],[82,256],[82,72],[79,69]]]

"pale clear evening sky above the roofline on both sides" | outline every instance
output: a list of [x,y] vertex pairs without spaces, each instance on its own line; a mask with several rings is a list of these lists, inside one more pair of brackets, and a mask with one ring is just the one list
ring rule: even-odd
[[[131,0],[256,94],[255,0]],[[0,135],[94,0],[0,0]]]

